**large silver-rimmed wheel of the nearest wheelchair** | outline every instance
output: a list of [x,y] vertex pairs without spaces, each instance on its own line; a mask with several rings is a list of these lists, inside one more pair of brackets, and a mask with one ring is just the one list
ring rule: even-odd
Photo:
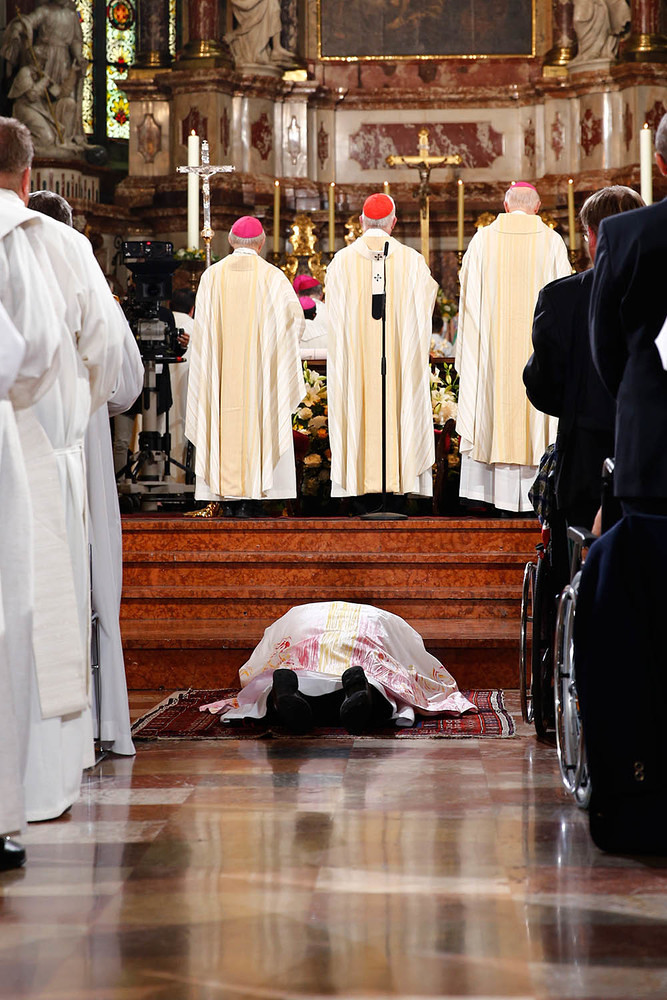
[[579,713],[574,665],[574,615],[580,574],[561,595],[556,623],[554,702],[556,750],[563,785],[578,806],[585,809],[591,794],[586,748]]

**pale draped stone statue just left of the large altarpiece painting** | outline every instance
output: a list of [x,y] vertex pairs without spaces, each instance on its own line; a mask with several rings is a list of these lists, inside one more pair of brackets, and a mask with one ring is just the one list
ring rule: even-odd
[[236,27],[225,35],[237,66],[291,65],[280,42],[280,0],[230,0]]

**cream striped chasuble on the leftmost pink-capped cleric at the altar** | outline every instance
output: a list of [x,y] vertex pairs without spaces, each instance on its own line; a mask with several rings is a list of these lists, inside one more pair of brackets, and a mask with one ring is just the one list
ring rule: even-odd
[[[237,249],[202,275],[185,435],[212,495],[296,496],[292,413],[306,394],[304,322],[288,279],[252,250]],[[281,458],[291,474],[278,482]]]

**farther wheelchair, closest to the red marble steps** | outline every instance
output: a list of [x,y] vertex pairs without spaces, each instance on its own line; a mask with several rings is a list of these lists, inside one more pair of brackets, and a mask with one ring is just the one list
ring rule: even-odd
[[565,522],[555,515],[542,525],[535,561],[526,563],[521,592],[519,693],[524,722],[538,739],[555,727],[553,654],[558,599],[567,580]]

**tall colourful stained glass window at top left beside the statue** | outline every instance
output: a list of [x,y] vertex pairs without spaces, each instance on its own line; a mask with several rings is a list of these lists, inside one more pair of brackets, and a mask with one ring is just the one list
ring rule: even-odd
[[[130,106],[122,81],[136,52],[136,0],[74,0],[88,71],[83,81],[83,127],[98,141],[128,139]],[[176,54],[177,0],[169,0],[169,51]],[[106,120],[103,121],[103,116]],[[99,117],[99,121],[97,120]]]

